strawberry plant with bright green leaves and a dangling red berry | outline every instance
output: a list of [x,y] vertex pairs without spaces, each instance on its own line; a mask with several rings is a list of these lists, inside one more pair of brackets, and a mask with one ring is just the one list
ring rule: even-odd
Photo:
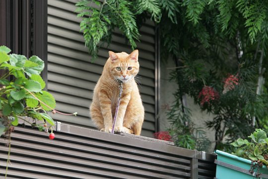
[[50,130],[49,138],[54,139],[54,121],[47,111],[52,110],[53,114],[57,112],[76,115],[54,109],[55,98],[43,90],[46,83],[40,76],[44,69],[44,62],[40,58],[32,56],[27,59],[23,55],[9,54],[10,51],[9,48],[0,46],[0,136],[8,138],[6,171],[10,154],[10,134],[19,121],[47,133]]

